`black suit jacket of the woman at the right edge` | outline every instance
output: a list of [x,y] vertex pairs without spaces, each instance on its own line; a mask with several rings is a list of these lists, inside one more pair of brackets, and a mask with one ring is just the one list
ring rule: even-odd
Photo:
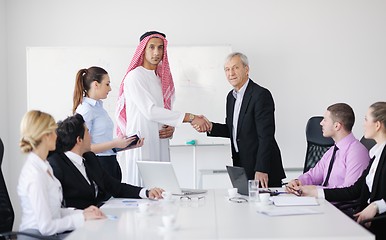
[[[360,211],[368,206],[367,201],[370,199],[370,203],[376,200],[386,200],[386,147],[383,149],[381,157],[379,159],[378,167],[375,171],[374,182],[371,191],[366,184],[366,176],[368,175],[372,161],[365,171],[363,171],[361,177],[354,183],[354,185],[346,188],[334,188],[324,189],[325,198],[328,201],[348,201],[359,198]],[[383,213],[385,215],[385,213]],[[386,220],[374,221],[371,224],[370,230],[377,235],[377,239],[385,239]],[[383,236],[383,238],[381,238]]]

